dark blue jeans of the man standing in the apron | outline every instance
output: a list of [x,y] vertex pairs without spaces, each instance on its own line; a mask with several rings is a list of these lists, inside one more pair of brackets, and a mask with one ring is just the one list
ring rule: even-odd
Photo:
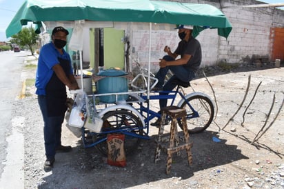
[[58,117],[48,117],[48,104],[46,97],[38,95],[39,108],[43,116],[43,135],[45,156],[54,158],[57,146],[61,145],[61,126],[64,121],[65,114]]

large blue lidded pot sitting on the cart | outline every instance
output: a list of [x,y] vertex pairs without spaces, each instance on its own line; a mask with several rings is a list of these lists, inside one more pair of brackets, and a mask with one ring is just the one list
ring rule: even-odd
[[[107,76],[97,81],[96,89],[98,94],[112,92],[128,92],[128,79],[121,77],[127,75],[123,70],[108,69],[101,70],[97,75]],[[120,94],[117,101],[124,101],[128,98],[128,94]],[[101,102],[114,103],[115,95],[105,95],[99,97]]]

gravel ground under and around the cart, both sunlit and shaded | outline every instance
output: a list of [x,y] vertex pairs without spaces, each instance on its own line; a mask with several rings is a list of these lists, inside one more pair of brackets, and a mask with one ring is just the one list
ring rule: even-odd
[[[31,58],[30,58],[31,59]],[[250,70],[250,71],[247,71]],[[283,102],[283,68],[234,70],[192,81],[196,91],[214,99],[218,112],[214,123],[205,132],[191,135],[193,164],[188,166],[185,152],[173,157],[172,169],[165,175],[166,156],[154,163],[158,130],[150,128],[150,140],[143,140],[139,150],[126,157],[127,166],[108,166],[106,158],[95,148],[84,148],[80,132],[64,123],[63,144],[71,145],[72,152],[57,154],[54,168],[43,170],[43,120],[34,95],[28,86],[24,99],[14,102],[14,117],[24,117],[24,172],[25,188],[284,188],[284,113],[283,108],[272,123]],[[242,108],[251,75],[250,90]],[[34,70],[23,70],[22,78],[34,77]],[[256,97],[247,109],[243,126],[243,112],[258,84]],[[186,89],[192,92],[192,89]],[[265,125],[275,94],[275,103],[265,128],[272,126],[252,143]],[[157,108],[157,103],[152,105]],[[231,121],[229,121],[231,120]],[[227,125],[226,125],[227,124]],[[226,126],[225,128],[223,128]],[[223,129],[222,129],[223,128]],[[219,139],[216,141],[215,139]]]

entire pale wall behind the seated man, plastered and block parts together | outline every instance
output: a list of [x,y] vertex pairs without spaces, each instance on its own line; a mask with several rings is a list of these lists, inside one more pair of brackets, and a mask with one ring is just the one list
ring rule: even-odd
[[[168,0],[167,0],[168,1]],[[232,32],[227,40],[219,37],[216,30],[205,30],[198,39],[202,46],[203,61],[201,66],[212,66],[221,61],[227,63],[253,63],[255,59],[263,62],[274,61],[272,58],[273,39],[271,28],[284,28],[284,10],[276,8],[240,8],[244,5],[263,4],[253,0],[208,0],[179,1],[186,3],[207,3],[221,9],[232,23]],[[134,30],[132,47],[141,63],[148,61],[148,44],[143,36],[147,30]],[[165,54],[163,47],[168,45],[174,50],[179,38],[176,30],[154,31],[152,39],[152,71],[159,66],[159,58]],[[145,47],[145,48],[143,48]],[[135,57],[132,54],[132,58]]]

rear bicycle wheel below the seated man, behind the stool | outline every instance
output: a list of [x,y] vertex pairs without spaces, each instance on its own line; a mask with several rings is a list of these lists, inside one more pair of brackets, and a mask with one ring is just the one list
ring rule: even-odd
[[[187,102],[189,104],[187,104]],[[191,134],[203,132],[210,126],[214,117],[214,106],[212,101],[201,95],[194,95],[183,102],[181,108],[185,108],[187,114],[187,129]],[[178,120],[179,127],[183,129],[181,119]]]

